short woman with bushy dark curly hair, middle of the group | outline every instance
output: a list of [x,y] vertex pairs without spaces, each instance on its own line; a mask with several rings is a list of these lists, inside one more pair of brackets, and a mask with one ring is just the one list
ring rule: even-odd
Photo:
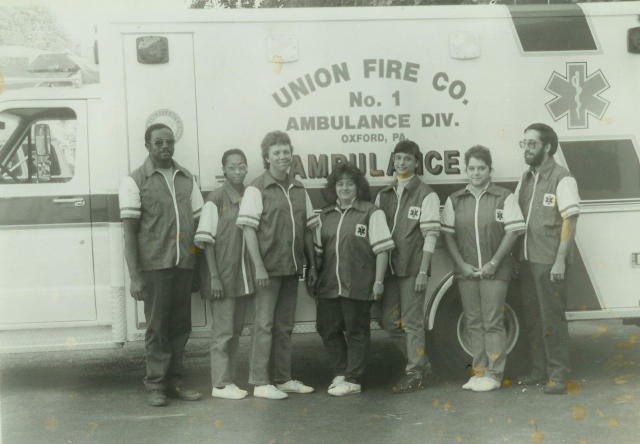
[[384,292],[391,234],[382,210],[369,199],[369,184],[350,163],[338,164],[326,185],[329,206],[316,229],[319,265],[316,327],[333,372],[328,393],[360,393],[369,351],[371,302]]

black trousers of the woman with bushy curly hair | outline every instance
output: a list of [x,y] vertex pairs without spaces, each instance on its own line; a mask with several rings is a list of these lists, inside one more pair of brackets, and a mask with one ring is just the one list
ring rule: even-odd
[[329,353],[334,376],[358,382],[369,356],[370,301],[318,299],[316,329]]

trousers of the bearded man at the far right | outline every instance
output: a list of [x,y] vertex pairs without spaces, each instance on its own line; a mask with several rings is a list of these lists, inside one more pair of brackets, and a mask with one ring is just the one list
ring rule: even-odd
[[520,272],[524,325],[531,347],[531,374],[565,382],[569,375],[566,278],[551,282],[551,265],[523,262]]

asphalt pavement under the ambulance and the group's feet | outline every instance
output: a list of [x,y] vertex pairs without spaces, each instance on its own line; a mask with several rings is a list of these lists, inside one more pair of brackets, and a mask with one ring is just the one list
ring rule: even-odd
[[[118,350],[1,356],[3,444],[37,443],[638,443],[640,328],[620,321],[570,324],[569,394],[504,382],[473,393],[443,378],[392,395],[401,358],[374,332],[363,392],[327,395],[328,362],[316,334],[294,336],[294,377],[316,393],[282,401],[209,396],[206,340],[188,345],[190,385],[201,401],[148,407],[142,344]],[[249,338],[241,341],[238,385],[247,388]]]

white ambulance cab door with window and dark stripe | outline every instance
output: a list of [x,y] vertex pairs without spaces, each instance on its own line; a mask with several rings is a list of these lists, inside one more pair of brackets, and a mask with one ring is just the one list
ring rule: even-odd
[[95,322],[86,103],[0,111],[0,328]]

